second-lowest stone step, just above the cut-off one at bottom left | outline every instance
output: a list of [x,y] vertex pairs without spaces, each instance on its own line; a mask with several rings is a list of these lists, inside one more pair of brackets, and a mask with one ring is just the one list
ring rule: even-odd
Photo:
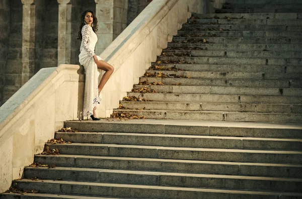
[[[264,191],[244,191],[229,189],[210,189],[210,188],[187,188],[174,186],[150,186],[133,184],[113,184],[100,182],[73,182],[73,181],[53,181],[23,179],[14,181],[13,185],[22,189],[38,187],[38,191],[63,193],[63,194],[87,194],[101,196],[120,196],[136,198],[288,198],[295,195],[296,198],[302,197],[301,193],[280,193]],[[51,187],[51,189],[49,189]],[[256,197],[255,197],[256,196]]]

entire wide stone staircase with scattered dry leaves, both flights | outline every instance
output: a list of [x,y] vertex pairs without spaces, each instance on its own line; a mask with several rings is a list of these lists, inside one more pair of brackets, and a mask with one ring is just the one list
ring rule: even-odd
[[0,198],[302,198],[299,9],[194,14],[114,110],[146,120],[66,121]]

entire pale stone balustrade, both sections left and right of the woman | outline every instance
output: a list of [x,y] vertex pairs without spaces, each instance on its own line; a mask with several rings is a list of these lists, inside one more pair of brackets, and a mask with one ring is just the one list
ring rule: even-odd
[[[203,13],[225,0],[153,0],[100,55],[115,71],[102,90],[97,113],[108,117],[139,77],[156,61],[191,12]],[[44,68],[0,107],[0,192],[22,177],[66,120],[82,118],[84,69]]]

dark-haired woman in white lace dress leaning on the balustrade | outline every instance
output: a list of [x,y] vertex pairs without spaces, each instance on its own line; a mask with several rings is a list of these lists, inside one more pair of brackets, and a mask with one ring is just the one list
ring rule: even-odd
[[[95,46],[98,41],[98,19],[93,11],[86,10],[81,14],[80,30],[77,39],[81,40],[79,61],[84,66],[86,73],[83,116],[92,120],[100,120],[96,116],[96,108],[100,104],[100,92],[108,81],[114,68],[95,54]],[[98,69],[105,71],[98,85]]]

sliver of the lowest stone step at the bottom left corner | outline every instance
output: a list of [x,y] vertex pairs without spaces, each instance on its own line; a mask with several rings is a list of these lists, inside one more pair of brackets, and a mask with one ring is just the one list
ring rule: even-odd
[[78,194],[73,195],[66,195],[66,194],[49,194],[49,193],[26,193],[26,194],[19,194],[19,193],[1,193],[1,199],[31,199],[31,198],[42,198],[42,199],[56,199],[56,198],[63,198],[63,199],[121,199],[125,197],[99,197],[96,195],[92,196],[83,196]]

